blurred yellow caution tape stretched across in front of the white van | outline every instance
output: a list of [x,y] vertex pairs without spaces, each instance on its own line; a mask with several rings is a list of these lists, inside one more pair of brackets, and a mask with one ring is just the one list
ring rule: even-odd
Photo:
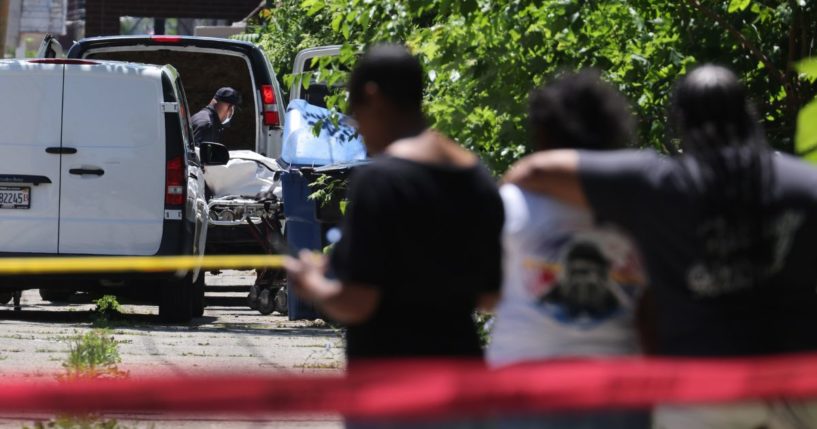
[[0,275],[282,268],[281,255],[0,258]]

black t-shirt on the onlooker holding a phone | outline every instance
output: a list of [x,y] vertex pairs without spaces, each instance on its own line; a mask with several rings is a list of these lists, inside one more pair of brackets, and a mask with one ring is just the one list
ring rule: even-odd
[[348,196],[332,269],[381,293],[373,317],[348,327],[349,358],[480,356],[472,314],[500,287],[504,217],[484,167],[381,157]]

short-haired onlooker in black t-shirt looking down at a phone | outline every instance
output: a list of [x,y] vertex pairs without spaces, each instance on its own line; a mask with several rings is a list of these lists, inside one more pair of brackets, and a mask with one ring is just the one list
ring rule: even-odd
[[286,261],[292,290],[348,325],[350,368],[482,354],[472,315],[500,286],[502,202],[477,156],[427,129],[422,98],[422,67],[404,47],[359,60],[350,110],[374,160],[351,178],[331,262]]

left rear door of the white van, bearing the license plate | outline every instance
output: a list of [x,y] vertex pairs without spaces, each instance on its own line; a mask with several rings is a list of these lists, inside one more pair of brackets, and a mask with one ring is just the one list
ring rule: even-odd
[[57,252],[62,78],[58,64],[0,63],[0,252]]

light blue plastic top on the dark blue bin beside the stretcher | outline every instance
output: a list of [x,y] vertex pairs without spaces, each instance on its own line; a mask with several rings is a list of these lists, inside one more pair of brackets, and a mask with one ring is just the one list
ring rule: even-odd
[[[287,106],[284,143],[281,158],[290,165],[324,166],[360,161],[366,158],[366,147],[357,131],[346,123],[346,115],[336,113],[335,125],[328,109],[305,100],[293,100]],[[319,135],[313,129],[323,121]]]

